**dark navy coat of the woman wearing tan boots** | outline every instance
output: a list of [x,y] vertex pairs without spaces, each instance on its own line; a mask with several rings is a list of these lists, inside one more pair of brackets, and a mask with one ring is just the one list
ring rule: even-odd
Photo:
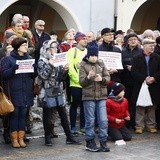
[[1,61],[2,76],[4,81],[4,89],[11,96],[11,101],[15,106],[30,107],[33,105],[33,79],[34,73],[19,73],[15,74],[16,60],[27,60],[32,57],[25,53],[24,56],[19,56],[17,51],[11,51],[10,56],[6,56]]

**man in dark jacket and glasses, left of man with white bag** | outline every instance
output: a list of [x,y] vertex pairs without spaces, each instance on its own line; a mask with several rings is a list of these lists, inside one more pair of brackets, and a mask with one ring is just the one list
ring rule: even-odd
[[127,123],[127,127],[135,127],[135,101],[133,101],[133,88],[134,88],[134,79],[131,75],[131,68],[133,57],[143,53],[142,48],[139,46],[139,39],[136,33],[130,33],[127,36],[127,46],[122,50],[122,64],[123,71],[120,74],[121,82],[125,86],[125,98],[129,102],[129,112],[131,115],[131,121]]

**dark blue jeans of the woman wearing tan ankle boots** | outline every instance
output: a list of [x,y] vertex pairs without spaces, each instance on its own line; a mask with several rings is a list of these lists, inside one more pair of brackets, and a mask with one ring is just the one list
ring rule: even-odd
[[14,107],[10,115],[10,131],[25,131],[27,107]]

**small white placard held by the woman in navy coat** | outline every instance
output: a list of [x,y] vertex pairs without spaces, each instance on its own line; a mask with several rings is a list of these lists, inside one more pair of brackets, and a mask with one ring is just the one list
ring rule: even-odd
[[18,69],[16,70],[16,74],[19,73],[33,73],[35,63],[35,59],[26,59],[26,60],[17,60],[16,64],[18,65]]

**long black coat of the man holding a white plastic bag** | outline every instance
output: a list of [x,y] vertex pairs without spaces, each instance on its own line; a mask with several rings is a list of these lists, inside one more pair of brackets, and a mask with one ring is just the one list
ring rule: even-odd
[[[150,56],[149,62],[149,76],[154,77],[156,82],[149,85],[149,92],[151,95],[153,104],[160,104],[160,56],[153,53]],[[132,76],[135,80],[134,83],[134,100],[137,101],[138,94],[141,88],[142,83],[146,79],[147,75],[147,64],[145,60],[145,55],[140,54],[133,57],[133,65],[131,69]]]

